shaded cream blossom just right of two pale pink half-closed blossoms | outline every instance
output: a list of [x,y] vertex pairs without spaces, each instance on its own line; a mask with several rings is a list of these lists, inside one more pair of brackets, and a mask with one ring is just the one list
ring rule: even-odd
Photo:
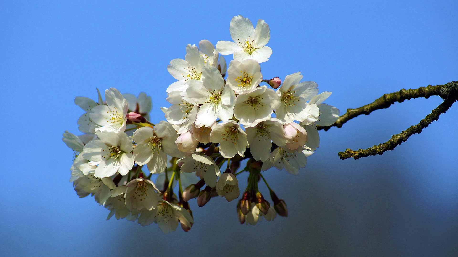
[[225,121],[218,125],[210,133],[213,143],[219,143],[219,153],[225,158],[232,158],[237,153],[244,157],[248,145],[246,133],[235,121]]

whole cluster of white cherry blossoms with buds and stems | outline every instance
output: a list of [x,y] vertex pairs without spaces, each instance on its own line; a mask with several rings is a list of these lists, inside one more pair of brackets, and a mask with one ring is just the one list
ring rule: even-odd
[[[297,175],[318,148],[316,125],[332,125],[339,110],[323,103],[331,92],[318,94],[318,85],[301,82],[300,72],[283,84],[278,77],[263,79],[260,63],[272,54],[264,20],[254,27],[235,16],[229,31],[234,42],[188,44],[185,59],[170,61],[167,69],[177,81],[166,90],[171,106],[161,107],[165,121],[149,121],[152,102],[145,93],[136,97],[109,88],[105,100],[100,92],[97,102],[75,98],[85,111],[77,122],[85,134],[65,131],[62,140],[75,151],[70,181],[79,197],[92,194],[110,211],[108,219],[154,222],[164,233],[181,224],[189,231],[194,220],[188,201],[197,198],[202,207],[218,195],[238,199],[236,176],[247,172],[236,208],[240,223],[288,215],[262,172],[275,167]],[[222,55],[229,54],[234,60],[227,65]],[[156,183],[150,180],[159,173]],[[274,208],[258,190],[261,178]]]

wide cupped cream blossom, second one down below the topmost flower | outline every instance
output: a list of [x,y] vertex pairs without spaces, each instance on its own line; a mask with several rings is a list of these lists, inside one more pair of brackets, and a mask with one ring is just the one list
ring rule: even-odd
[[269,118],[273,110],[280,106],[278,94],[267,86],[258,87],[246,94],[237,95],[234,107],[234,116],[241,124],[251,123]]

